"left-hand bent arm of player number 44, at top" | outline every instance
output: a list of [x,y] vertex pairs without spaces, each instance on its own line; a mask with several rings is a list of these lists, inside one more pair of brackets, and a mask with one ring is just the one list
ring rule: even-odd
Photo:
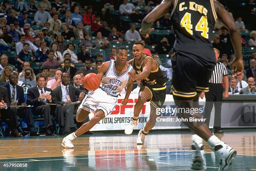
[[175,0],[163,0],[161,4],[157,5],[149,14],[142,20],[140,33],[143,37],[148,37],[148,34],[154,31],[151,28],[153,23],[164,16],[174,6]]

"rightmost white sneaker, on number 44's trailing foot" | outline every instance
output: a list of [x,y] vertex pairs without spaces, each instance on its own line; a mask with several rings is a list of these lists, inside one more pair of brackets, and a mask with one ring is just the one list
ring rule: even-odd
[[236,150],[221,141],[215,147],[211,148],[215,153],[215,160],[219,164],[218,171],[230,171],[230,168],[236,157]]

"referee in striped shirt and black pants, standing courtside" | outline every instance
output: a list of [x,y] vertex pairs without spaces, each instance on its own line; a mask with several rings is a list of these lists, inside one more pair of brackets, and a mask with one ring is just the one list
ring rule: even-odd
[[[220,51],[218,49],[214,49],[216,61],[218,61],[218,57],[220,55]],[[210,116],[212,112],[212,107],[214,104],[215,107],[215,118],[214,118],[214,133],[223,133],[221,130],[221,104],[222,104],[222,96],[223,96],[223,87],[222,82],[224,80],[225,91],[224,98],[228,97],[228,72],[225,65],[221,62],[217,62],[215,65],[215,69],[212,72],[212,76],[208,81],[209,84],[209,92],[205,93],[205,113],[204,118],[205,123],[209,126]],[[204,92],[200,95],[201,98],[204,97]]]

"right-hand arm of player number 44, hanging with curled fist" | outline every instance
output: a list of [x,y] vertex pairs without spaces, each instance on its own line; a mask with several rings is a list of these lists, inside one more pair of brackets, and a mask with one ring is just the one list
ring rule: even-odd
[[233,70],[236,67],[238,74],[243,72],[243,56],[241,51],[241,35],[238,27],[236,26],[235,21],[229,15],[228,11],[225,10],[225,7],[220,4],[218,1],[214,1],[214,8],[217,14],[217,17],[228,27],[230,40],[232,42],[233,48],[235,50],[236,59],[231,64],[231,69]]

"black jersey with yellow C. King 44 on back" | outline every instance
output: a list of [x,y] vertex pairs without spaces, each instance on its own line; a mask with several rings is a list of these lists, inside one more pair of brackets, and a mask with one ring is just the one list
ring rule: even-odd
[[215,65],[211,35],[216,19],[213,0],[176,0],[171,17],[177,39],[174,50],[199,64]]

